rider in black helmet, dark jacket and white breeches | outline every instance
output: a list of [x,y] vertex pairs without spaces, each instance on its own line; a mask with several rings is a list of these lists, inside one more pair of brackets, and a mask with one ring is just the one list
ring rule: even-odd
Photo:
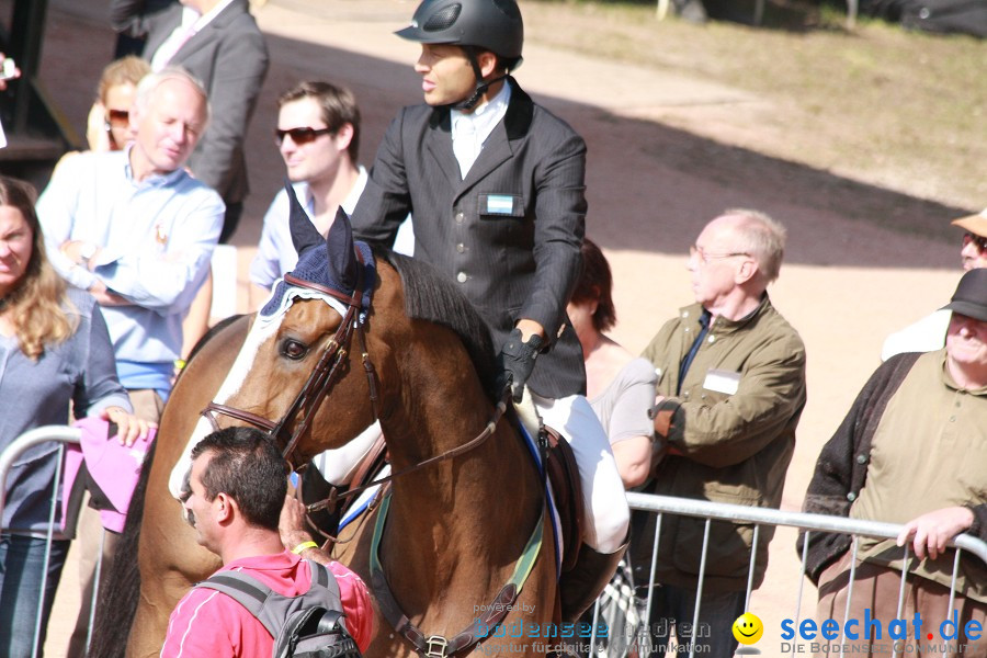
[[593,549],[583,546],[580,558],[605,564],[624,542],[627,504],[582,397],[582,349],[566,316],[581,266],[586,144],[511,76],[524,41],[514,0],[424,0],[397,35],[421,44],[424,104],[401,110],[387,129],[354,234],[389,247],[411,213],[415,257],[486,320],[502,384],[518,401],[529,385],[545,423],[577,451]]

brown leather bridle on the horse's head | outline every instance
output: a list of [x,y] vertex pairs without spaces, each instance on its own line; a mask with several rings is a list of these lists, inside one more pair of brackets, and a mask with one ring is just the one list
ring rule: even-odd
[[[356,256],[362,264],[363,258],[359,251]],[[310,427],[313,418],[319,410],[319,406],[321,405],[322,400],[329,395],[332,386],[342,375],[342,365],[345,362],[348,354],[350,353],[350,343],[353,340],[354,332],[360,336],[363,356],[363,370],[366,373],[366,378],[370,384],[370,399],[375,420],[377,419],[377,375],[376,371],[374,370],[373,363],[371,363],[370,355],[366,352],[366,337],[363,332],[363,325],[356,321],[356,316],[363,305],[363,291],[365,283],[363,281],[363,268],[360,269],[360,275],[358,276],[356,286],[352,295],[347,295],[344,293],[333,291],[332,288],[313,283],[310,281],[303,281],[302,279],[297,279],[295,276],[292,276],[291,274],[284,275],[284,282],[288,285],[310,290],[324,295],[329,295],[330,297],[338,299],[347,305],[347,310],[343,314],[342,322],[340,322],[339,328],[336,330],[336,334],[326,343],[326,347],[322,350],[322,354],[319,356],[319,361],[316,364],[315,370],[313,370],[311,374],[308,376],[308,381],[305,383],[305,386],[302,387],[302,390],[298,392],[298,395],[295,396],[294,401],[281,417],[281,420],[279,420],[277,422],[274,422],[258,413],[247,411],[246,409],[237,409],[236,407],[219,405],[216,402],[209,402],[208,405],[206,405],[201,415],[203,416],[203,418],[209,421],[209,424],[213,426],[214,431],[219,430],[219,423],[216,419],[218,415],[235,418],[236,420],[250,423],[263,430],[268,435],[271,436],[271,439],[274,441],[274,444],[282,450],[282,455],[288,463],[288,467],[292,470],[296,470],[302,466],[300,464],[295,464],[294,462],[298,441],[302,439],[302,435],[305,433],[305,431]],[[294,423],[295,418],[298,416],[298,412],[303,408],[306,410],[305,416],[302,418],[302,421],[295,426],[294,431],[292,431],[291,427]]]

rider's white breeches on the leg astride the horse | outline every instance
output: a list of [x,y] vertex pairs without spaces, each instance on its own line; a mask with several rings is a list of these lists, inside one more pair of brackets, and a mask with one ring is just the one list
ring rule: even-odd
[[598,553],[613,553],[627,538],[631,510],[603,426],[581,395],[531,397],[545,424],[561,434],[576,455],[586,510],[583,541]]

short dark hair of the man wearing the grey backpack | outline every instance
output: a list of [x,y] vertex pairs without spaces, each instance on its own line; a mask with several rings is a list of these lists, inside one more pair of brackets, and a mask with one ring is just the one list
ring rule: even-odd
[[287,494],[287,463],[266,434],[256,428],[226,428],[192,449],[192,461],[211,454],[202,474],[206,499],[220,492],[237,501],[251,525],[277,530]]

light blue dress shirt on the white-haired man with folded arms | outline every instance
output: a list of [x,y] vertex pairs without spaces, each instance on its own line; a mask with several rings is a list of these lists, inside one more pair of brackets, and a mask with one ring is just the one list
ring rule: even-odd
[[[208,272],[225,207],[184,169],[137,182],[129,149],[84,152],[59,164],[37,202],[48,258],[72,285],[97,280],[132,303],[105,306],[121,382],[167,390],[182,319]],[[67,240],[103,248],[92,272],[60,251]]]

